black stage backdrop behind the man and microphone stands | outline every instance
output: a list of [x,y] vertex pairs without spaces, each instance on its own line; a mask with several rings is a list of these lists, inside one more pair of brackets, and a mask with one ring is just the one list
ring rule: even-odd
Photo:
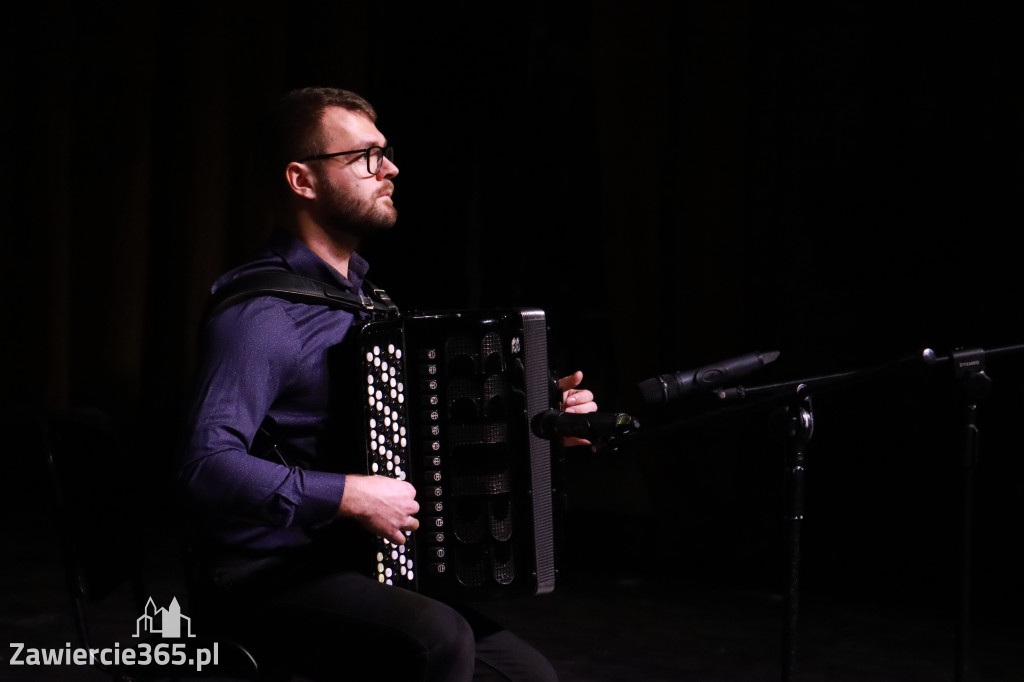
[[[206,291],[270,222],[266,102],[365,94],[396,148],[368,245],[404,309],[530,305],[641,431],[636,384],[752,350],[787,381],[1024,343],[1018,3],[33,3],[4,22],[5,507],[45,515],[40,410],[98,404],[167,513]],[[1016,623],[1024,359],[988,353],[975,606]],[[941,606],[965,400],[945,366],[816,394],[804,587]],[[702,408],[701,408],[702,409]],[[563,580],[782,589],[770,411],[569,453]],[[44,524],[39,521],[40,532]]]

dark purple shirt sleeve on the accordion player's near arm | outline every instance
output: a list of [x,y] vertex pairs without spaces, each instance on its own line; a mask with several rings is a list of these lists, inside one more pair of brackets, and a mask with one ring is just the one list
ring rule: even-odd
[[265,299],[227,308],[207,325],[180,469],[194,511],[275,527],[322,525],[337,514],[343,474],[249,455],[299,343],[292,319]]

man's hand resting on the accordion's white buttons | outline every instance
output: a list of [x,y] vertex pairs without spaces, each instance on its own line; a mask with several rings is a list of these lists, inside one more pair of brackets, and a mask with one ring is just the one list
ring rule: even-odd
[[397,545],[406,544],[406,530],[416,530],[420,511],[412,483],[387,476],[345,476],[339,516],[356,519],[362,527]]

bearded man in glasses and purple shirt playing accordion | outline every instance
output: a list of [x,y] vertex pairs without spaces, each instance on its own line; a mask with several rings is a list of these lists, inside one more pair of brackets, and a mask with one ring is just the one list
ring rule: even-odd
[[[357,249],[395,223],[398,174],[373,108],[344,90],[297,90],[270,129],[281,228],[214,291],[284,270],[369,293]],[[419,525],[413,485],[333,472],[326,456],[329,355],[359,316],[257,296],[208,322],[180,469],[203,527],[191,576],[207,611],[197,622],[241,630],[271,663],[313,679],[555,679],[511,633],[336,562],[335,526],[354,522],[403,544]],[[559,382],[566,411],[597,409],[577,388],[582,378]]]

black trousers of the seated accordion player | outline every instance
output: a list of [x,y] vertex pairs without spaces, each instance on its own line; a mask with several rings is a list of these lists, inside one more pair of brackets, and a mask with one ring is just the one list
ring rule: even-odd
[[309,680],[557,680],[525,641],[466,607],[309,557],[218,557],[194,573],[195,621],[262,668]]

